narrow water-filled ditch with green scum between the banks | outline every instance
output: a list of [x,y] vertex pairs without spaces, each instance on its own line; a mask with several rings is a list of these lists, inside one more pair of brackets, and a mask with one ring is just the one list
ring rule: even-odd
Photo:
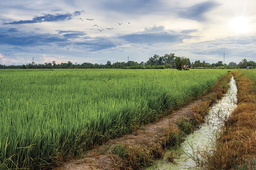
[[[209,148],[213,140],[215,140],[216,130],[224,125],[225,120],[231,114],[237,103],[237,88],[234,78],[231,78],[230,89],[208,112],[205,123],[196,129],[194,133],[189,134],[185,141],[181,144],[181,148],[184,153],[180,154],[178,159],[174,159],[177,164],[165,161],[166,158],[159,160],[157,166],[151,166],[144,170],[187,170],[187,169],[199,169],[196,163],[188,157],[189,154],[193,154],[193,149],[203,149],[205,146]],[[208,146],[209,145],[209,146]],[[167,151],[165,155],[170,155],[171,151]],[[188,155],[187,155],[188,154]]]

